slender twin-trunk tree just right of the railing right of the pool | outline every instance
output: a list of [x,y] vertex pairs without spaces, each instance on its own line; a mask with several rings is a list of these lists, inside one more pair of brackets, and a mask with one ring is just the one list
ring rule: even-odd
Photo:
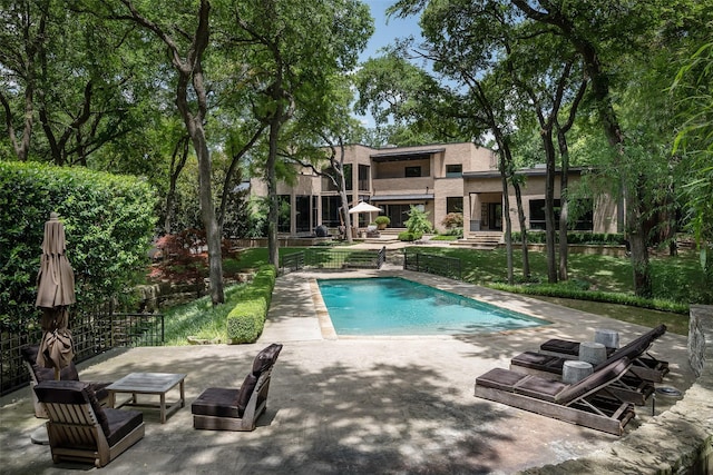
[[498,145],[499,170],[502,178],[505,241],[508,254],[508,281],[514,281],[512,238],[509,187],[516,194],[518,217],[522,229],[522,270],[529,277],[527,232],[522,210],[520,179],[516,176],[510,148],[512,133],[512,86],[508,75],[496,66],[507,53],[507,34],[511,19],[497,2],[468,0],[421,1],[402,0],[392,11],[401,16],[421,13],[421,56],[432,61],[442,82],[456,82],[452,89],[461,96],[452,105],[450,117],[466,125],[471,137],[489,130]]

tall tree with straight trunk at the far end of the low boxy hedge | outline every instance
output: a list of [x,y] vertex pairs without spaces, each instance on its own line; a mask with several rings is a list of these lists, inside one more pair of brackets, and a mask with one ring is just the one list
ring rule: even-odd
[[247,48],[255,89],[263,93],[257,113],[268,125],[264,164],[270,200],[268,259],[279,264],[277,176],[281,132],[302,98],[329,88],[334,71],[349,71],[373,31],[367,6],[355,0],[248,1],[235,7],[238,32]]

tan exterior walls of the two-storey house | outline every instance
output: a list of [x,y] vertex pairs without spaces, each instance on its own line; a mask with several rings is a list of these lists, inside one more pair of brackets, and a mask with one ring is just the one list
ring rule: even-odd
[[[510,209],[501,209],[501,179],[497,170],[497,157],[490,149],[477,147],[470,142],[384,149],[350,145],[345,147],[344,162],[352,165],[352,189],[348,191],[350,206],[354,206],[362,199],[372,201],[384,209],[387,206],[393,205],[394,208],[391,209],[397,212],[397,216],[402,216],[399,214],[399,205],[403,209],[408,209],[408,206],[422,206],[429,214],[433,226],[438,230],[443,230],[441,221],[448,211],[448,198],[460,197],[465,237],[480,230],[502,231],[505,212],[510,214],[512,230],[520,230],[517,201],[511,188],[508,189]],[[360,165],[369,167],[367,186],[361,187]],[[453,171],[453,167],[450,167],[451,172],[448,172],[449,166],[458,165],[461,166],[460,174]],[[407,167],[421,167],[420,176],[406,177]],[[522,205],[528,228],[529,200],[545,199],[544,172],[545,170],[541,169],[528,170],[527,180],[522,187]],[[472,175],[468,176],[468,174]],[[572,172],[569,185],[575,187],[578,181],[578,171]],[[559,188],[557,179],[555,181],[555,197],[557,199],[560,195]],[[266,196],[267,189],[261,180],[252,179],[251,192]],[[322,197],[339,195],[336,190],[325,186],[322,177],[307,168],[301,170],[294,186],[279,184],[277,192],[290,196],[293,214],[291,219],[292,234],[295,232],[297,196],[309,196],[314,200],[316,217],[312,216],[313,210],[310,216],[310,226],[311,229],[314,229],[314,227],[322,225]],[[377,199],[373,199],[374,197]],[[593,222],[595,232],[616,232],[616,202],[608,198],[602,198],[595,202]],[[352,216],[352,218],[355,217]]]

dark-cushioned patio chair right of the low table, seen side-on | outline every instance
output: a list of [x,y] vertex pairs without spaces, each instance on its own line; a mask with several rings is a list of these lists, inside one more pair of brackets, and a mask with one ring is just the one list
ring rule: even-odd
[[254,431],[267,408],[272,369],[282,350],[272,344],[255,356],[240,388],[209,387],[191,405],[193,427],[209,431]]

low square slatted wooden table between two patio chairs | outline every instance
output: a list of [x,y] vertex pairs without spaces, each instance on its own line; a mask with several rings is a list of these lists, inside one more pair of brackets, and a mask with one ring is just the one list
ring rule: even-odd
[[[160,409],[160,423],[166,423],[166,417],[186,405],[184,382],[186,375],[174,373],[131,373],[121,379],[107,386],[109,392],[109,407],[158,407]],[[180,386],[180,398],[172,404],[166,404],[166,393],[176,386]],[[116,406],[117,393],[130,393],[131,397]],[[158,395],[158,404],[139,403],[137,395]]]

